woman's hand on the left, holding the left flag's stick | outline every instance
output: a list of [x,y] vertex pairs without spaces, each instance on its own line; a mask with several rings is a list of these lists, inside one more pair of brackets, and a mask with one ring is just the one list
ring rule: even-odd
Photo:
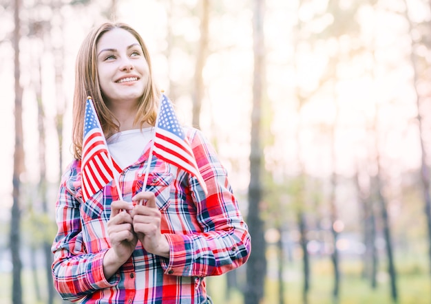
[[103,272],[106,279],[116,273],[136,248],[138,237],[133,230],[133,221],[129,214],[132,208],[132,203],[124,201],[114,201],[111,204],[111,217],[107,223],[111,248],[103,257]]

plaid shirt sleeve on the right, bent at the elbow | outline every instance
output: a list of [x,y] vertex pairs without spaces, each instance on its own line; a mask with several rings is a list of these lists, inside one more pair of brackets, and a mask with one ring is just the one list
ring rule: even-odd
[[200,131],[190,132],[191,148],[208,189],[205,196],[197,179],[191,177],[191,195],[202,232],[167,234],[170,256],[162,261],[162,267],[166,274],[176,276],[219,275],[246,263],[251,238],[213,147]]

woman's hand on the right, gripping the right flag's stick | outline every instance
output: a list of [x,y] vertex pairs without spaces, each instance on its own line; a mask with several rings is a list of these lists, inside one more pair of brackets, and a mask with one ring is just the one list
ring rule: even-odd
[[[132,198],[138,202],[130,215],[138,239],[147,252],[169,258],[169,243],[160,232],[162,215],[156,206],[156,197],[150,191],[143,191]],[[143,204],[140,204],[143,202]]]

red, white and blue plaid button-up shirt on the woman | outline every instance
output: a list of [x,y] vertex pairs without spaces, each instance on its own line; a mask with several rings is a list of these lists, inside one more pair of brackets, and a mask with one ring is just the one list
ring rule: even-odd
[[[110,247],[107,221],[111,202],[118,199],[116,187],[111,182],[83,202],[81,161],[70,164],[56,202],[59,230],[52,246],[54,285],[63,298],[83,303],[206,303],[204,277],[246,262],[250,235],[227,173],[202,133],[186,131],[207,197],[195,177],[153,156],[147,190],[156,194],[169,259],[146,252],[138,241],[129,261],[109,279],[103,274],[103,256]],[[148,156],[149,145],[120,173],[126,202],[143,189]]]

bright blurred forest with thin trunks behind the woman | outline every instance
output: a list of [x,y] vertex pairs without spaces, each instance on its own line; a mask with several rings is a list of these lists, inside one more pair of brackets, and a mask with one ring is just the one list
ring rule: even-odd
[[431,303],[431,1],[0,0],[1,303],[63,303],[74,61],[105,20],[229,171],[253,250],[215,303]]

